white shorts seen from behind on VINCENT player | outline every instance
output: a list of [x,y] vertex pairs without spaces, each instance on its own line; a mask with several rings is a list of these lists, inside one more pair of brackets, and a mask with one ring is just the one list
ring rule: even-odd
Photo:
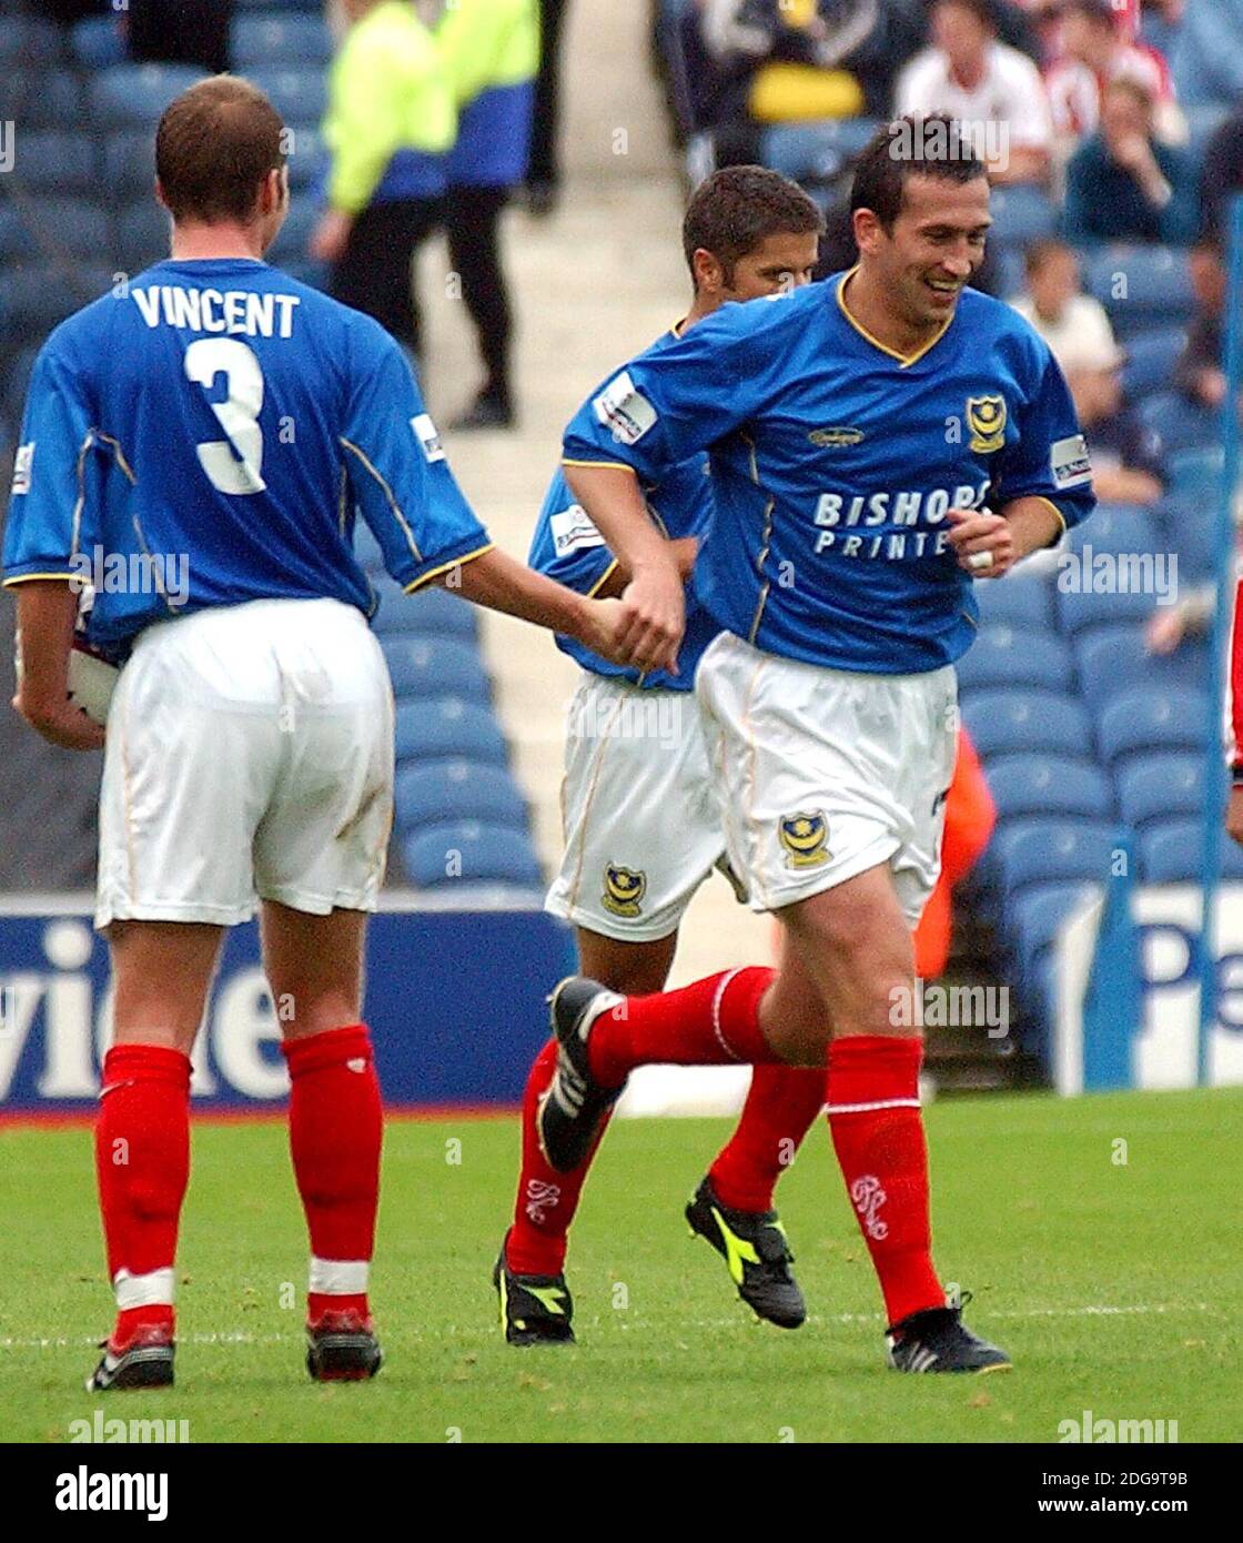
[[362,614],[251,600],[148,626],[108,713],[96,926],[375,910],[393,697]]

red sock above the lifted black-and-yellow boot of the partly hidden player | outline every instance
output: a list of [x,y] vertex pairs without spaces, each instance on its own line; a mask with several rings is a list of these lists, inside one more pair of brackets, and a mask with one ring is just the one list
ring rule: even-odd
[[822,1066],[756,1066],[742,1119],[708,1170],[734,1211],[771,1211],[773,1190],[825,1106]]

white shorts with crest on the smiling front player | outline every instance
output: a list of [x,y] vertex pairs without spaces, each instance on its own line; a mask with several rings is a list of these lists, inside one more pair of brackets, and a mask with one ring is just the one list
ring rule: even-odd
[[777,910],[887,863],[911,926],[941,870],[956,676],[862,674],[731,633],[696,673],[729,863]]

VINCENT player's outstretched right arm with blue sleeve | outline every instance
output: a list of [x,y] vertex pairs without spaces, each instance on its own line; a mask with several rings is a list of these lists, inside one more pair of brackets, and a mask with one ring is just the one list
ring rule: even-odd
[[345,477],[393,579],[407,594],[443,585],[628,662],[615,643],[625,608],[498,552],[449,469],[401,350],[373,322],[359,324],[355,341],[356,384],[341,437]]

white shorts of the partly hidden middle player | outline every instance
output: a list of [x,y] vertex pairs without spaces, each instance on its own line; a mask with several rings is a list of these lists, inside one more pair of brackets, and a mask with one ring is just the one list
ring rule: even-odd
[[692,691],[583,673],[566,725],[561,826],[546,910],[622,943],[677,930],[725,855]]

